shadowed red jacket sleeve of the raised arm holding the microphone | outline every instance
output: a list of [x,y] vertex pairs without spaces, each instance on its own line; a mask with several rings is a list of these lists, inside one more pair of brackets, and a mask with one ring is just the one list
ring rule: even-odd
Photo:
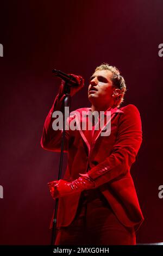
[[[41,147],[46,150],[59,152],[61,150],[62,130],[53,130],[52,124],[56,118],[53,118],[54,111],[63,111],[65,94],[61,93],[61,87],[58,95],[55,97],[53,106],[49,111],[42,131]],[[65,131],[64,152],[67,152],[69,132]]]

